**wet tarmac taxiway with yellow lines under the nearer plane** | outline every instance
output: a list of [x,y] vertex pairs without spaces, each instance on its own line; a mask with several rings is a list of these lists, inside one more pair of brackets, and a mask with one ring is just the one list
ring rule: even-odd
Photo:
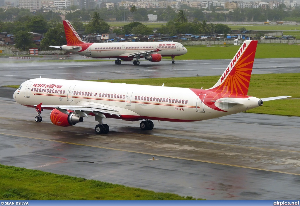
[[[26,73],[26,70],[23,71]],[[239,113],[201,122],[85,118],[57,127],[0,87],[0,163],[205,199],[298,199],[300,118]],[[153,156],[154,159],[153,160]]]

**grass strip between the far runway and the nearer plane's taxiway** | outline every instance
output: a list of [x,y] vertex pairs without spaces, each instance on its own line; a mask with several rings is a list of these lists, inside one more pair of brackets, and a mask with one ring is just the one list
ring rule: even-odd
[[[212,87],[220,76],[196,76],[178,78],[148,78],[148,79],[117,79],[93,80],[99,82],[115,82],[138,85],[161,86],[165,83],[168,87],[201,88]],[[252,74],[248,95],[258,98],[288,95],[292,99],[273,100],[264,102],[264,105],[247,112],[269,115],[300,116],[300,73],[281,74]],[[9,87],[18,88],[19,85]]]

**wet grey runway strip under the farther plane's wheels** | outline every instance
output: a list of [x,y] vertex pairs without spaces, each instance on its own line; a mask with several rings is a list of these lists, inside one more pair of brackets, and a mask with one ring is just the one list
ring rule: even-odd
[[[37,62],[36,59],[41,58],[32,58],[29,62],[1,58],[0,86],[19,85],[41,75],[46,78],[76,80],[220,76],[230,63],[230,60],[190,60],[176,61],[176,64],[172,64],[170,60],[166,60],[158,63],[141,61],[140,65],[136,66],[132,62],[117,65],[113,61]],[[72,59],[83,58],[75,55]],[[300,58],[255,59],[252,71],[256,74],[297,72],[300,72]]]

